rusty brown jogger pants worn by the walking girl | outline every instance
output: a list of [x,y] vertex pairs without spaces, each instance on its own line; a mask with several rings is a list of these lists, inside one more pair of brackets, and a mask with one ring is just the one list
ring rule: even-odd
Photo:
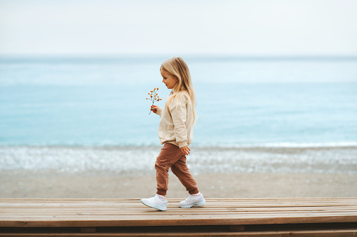
[[165,143],[155,162],[157,194],[166,195],[168,191],[168,170],[177,176],[182,185],[186,187],[189,194],[197,194],[198,188],[194,177],[189,173],[186,164],[186,156],[182,154],[179,147],[171,143]]

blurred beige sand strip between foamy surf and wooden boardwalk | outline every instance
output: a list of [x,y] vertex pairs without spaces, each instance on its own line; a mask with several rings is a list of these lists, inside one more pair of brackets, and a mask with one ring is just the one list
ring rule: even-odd
[[[195,175],[206,198],[356,197],[357,174],[232,173]],[[154,196],[155,175],[0,174],[0,198],[141,199]],[[187,192],[170,173],[168,198]]]

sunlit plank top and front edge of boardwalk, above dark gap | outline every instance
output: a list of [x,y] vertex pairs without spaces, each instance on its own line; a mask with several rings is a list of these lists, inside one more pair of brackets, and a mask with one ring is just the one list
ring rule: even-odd
[[0,227],[135,227],[357,222],[357,199],[207,199],[168,210],[139,199],[0,199]]

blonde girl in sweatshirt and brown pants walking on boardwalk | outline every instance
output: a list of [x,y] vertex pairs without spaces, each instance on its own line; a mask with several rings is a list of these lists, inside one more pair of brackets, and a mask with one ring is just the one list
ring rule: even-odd
[[156,158],[156,196],[141,199],[144,205],[158,210],[166,210],[168,203],[168,170],[179,178],[182,185],[189,192],[189,197],[181,201],[181,208],[202,206],[206,203],[203,195],[198,191],[196,181],[189,172],[186,155],[189,155],[189,144],[194,137],[194,123],[196,122],[196,94],[191,82],[187,64],[181,57],[173,57],[161,64],[163,83],[172,89],[163,108],[151,106],[151,111],[160,115],[159,138],[163,148]]

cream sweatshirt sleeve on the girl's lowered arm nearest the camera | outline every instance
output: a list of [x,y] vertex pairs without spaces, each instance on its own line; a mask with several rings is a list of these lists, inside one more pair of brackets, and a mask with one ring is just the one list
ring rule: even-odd
[[179,99],[179,101],[173,101],[169,106],[170,114],[173,118],[175,139],[180,148],[187,146],[187,109],[186,101],[182,97]]

